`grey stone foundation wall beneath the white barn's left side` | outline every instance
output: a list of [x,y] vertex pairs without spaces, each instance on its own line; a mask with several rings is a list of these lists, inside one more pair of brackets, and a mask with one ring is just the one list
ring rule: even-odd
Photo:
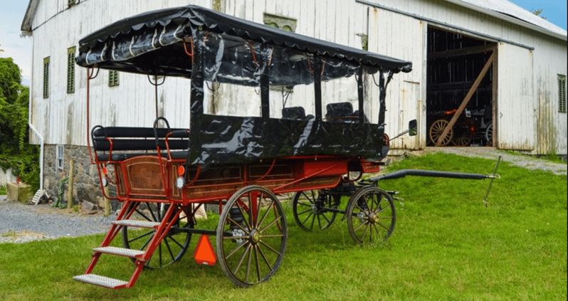
[[[75,161],[75,174],[73,176],[73,204],[79,205],[89,201],[99,208],[104,208],[104,198],[100,191],[97,167],[90,164],[87,147],[76,145],[63,146],[63,170],[57,168],[57,145],[46,144],[43,150],[43,189],[56,201],[59,197],[61,181],[70,174],[70,162]],[[64,185],[63,201],[68,202],[68,184]],[[115,204],[114,204],[115,203]],[[111,202],[112,210],[119,206],[116,201]]]

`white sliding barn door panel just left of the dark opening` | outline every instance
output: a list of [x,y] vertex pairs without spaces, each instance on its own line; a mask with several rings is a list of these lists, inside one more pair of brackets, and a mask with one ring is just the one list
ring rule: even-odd
[[[391,148],[419,149],[426,142],[426,73],[424,23],[409,16],[382,9],[371,9],[369,21],[369,51],[412,62],[411,73],[394,75],[386,90],[385,132],[390,137],[408,130],[410,120],[419,121],[419,135],[394,139]],[[378,83],[379,78],[375,77]],[[372,80],[372,79],[369,79]],[[374,83],[373,83],[374,86]],[[379,99],[379,89],[374,87],[374,99]],[[378,107],[373,108],[373,120],[377,122]]]

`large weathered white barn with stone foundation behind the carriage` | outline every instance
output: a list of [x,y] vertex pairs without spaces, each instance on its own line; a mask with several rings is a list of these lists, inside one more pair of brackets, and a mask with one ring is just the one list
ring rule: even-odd
[[[31,142],[43,144],[43,186],[52,195],[73,159],[75,196],[95,203],[100,198],[86,147],[87,74],[73,59],[78,40],[127,16],[187,4],[180,0],[29,2],[21,31],[33,37],[30,126],[36,134]],[[391,148],[424,149],[431,143],[428,127],[436,114],[464,103],[469,111],[484,110],[485,122],[493,123],[493,139],[485,144],[528,154],[567,154],[567,32],[509,1],[197,0],[191,4],[412,61],[413,71],[395,76],[389,85],[386,132],[402,132],[409,120],[417,119],[419,134],[394,140]],[[487,75],[476,80],[484,67]],[[470,91],[472,86],[475,89]],[[167,79],[157,93],[158,115],[172,127],[188,127],[187,81]],[[101,70],[90,83],[90,95],[91,126],[148,127],[156,116],[154,86],[140,75]],[[211,110],[238,110],[238,105],[219,105]],[[374,115],[373,107],[367,109]]]

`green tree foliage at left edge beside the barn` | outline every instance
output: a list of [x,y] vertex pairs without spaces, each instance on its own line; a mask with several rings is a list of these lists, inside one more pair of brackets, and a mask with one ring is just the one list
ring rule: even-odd
[[12,58],[0,58],[0,168],[11,168],[36,190],[39,147],[28,144],[28,104],[29,88],[21,85],[20,68]]

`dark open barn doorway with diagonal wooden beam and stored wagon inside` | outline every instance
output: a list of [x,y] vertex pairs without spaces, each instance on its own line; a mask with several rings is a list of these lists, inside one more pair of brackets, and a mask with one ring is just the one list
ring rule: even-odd
[[428,26],[427,145],[493,146],[497,44]]

